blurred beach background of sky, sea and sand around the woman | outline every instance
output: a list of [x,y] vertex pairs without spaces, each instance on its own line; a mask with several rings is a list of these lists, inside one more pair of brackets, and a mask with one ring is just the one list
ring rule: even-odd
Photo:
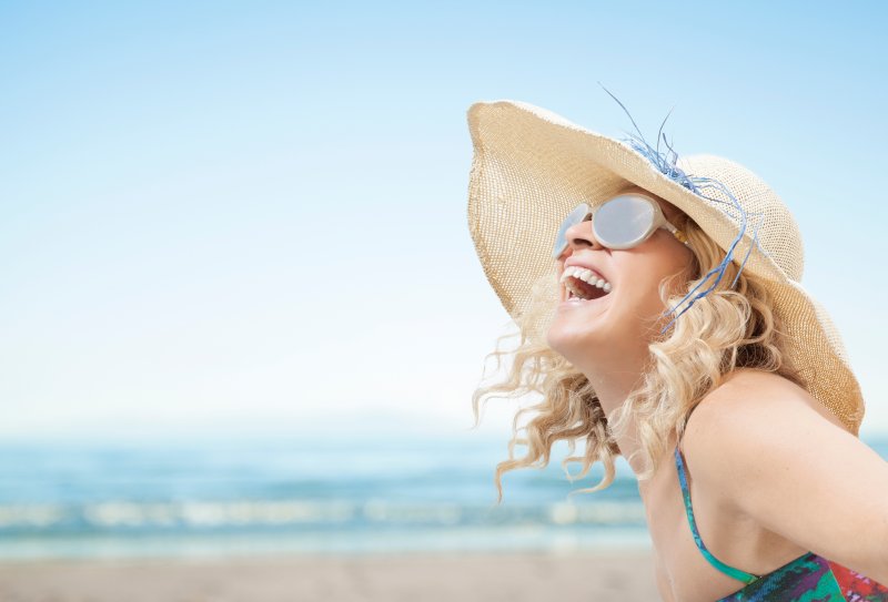
[[601,82],[648,137],[674,108],[679,155],[759,174],[888,458],[885,19],[877,2],[0,2],[0,595],[654,599],[622,459],[614,486],[568,499],[603,471],[571,482],[556,446],[495,503],[533,400],[493,400],[472,428],[511,331],[467,229],[480,100],[624,136]]

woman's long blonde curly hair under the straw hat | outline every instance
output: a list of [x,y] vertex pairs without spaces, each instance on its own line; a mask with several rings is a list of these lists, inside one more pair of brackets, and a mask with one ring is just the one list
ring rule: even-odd
[[[664,307],[675,307],[725,254],[686,214],[679,212],[672,222],[684,229],[690,241],[693,265],[689,273],[693,277],[683,283],[677,279],[683,276],[676,275],[660,282]],[[571,494],[606,489],[614,481],[615,459],[622,455],[616,436],[625,433],[633,416],[640,443],[636,453],[642,455],[645,465],[637,478],[649,479],[657,471],[669,435],[675,432],[680,437],[694,407],[737,368],[776,373],[804,387],[798,371],[788,360],[783,325],[771,309],[763,280],[743,271],[736,286],[730,288],[738,268],[735,259],[708,295],[696,300],[693,308],[675,320],[670,330],[648,345],[650,368],[643,375],[642,385],[612,412],[610,420],[585,375],[547,345],[545,331],[557,303],[557,295],[553,296],[558,287],[557,275],[553,271],[537,280],[527,309],[515,318],[518,331],[500,336],[494,351],[485,356],[485,365],[494,357],[497,369],[504,356],[512,358],[505,379],[480,386],[472,396],[474,427],[480,422],[480,405],[490,398],[542,396],[539,402],[515,414],[508,459],[496,465],[497,504],[503,500],[503,473],[526,467],[546,467],[552,446],[562,439],[568,442],[571,453],[562,461],[568,477],[585,477],[596,461],[605,469],[595,487]],[[707,282],[700,289],[710,284]],[[677,289],[682,292],[676,295]],[[515,349],[501,350],[505,339],[516,336],[519,341]],[[531,414],[532,418],[518,429],[524,414]],[[526,431],[526,437],[519,438],[519,430]],[[586,441],[582,457],[573,456],[578,439]],[[516,445],[527,447],[523,458],[515,458]],[[574,476],[567,470],[572,461],[583,463],[579,473]]]

